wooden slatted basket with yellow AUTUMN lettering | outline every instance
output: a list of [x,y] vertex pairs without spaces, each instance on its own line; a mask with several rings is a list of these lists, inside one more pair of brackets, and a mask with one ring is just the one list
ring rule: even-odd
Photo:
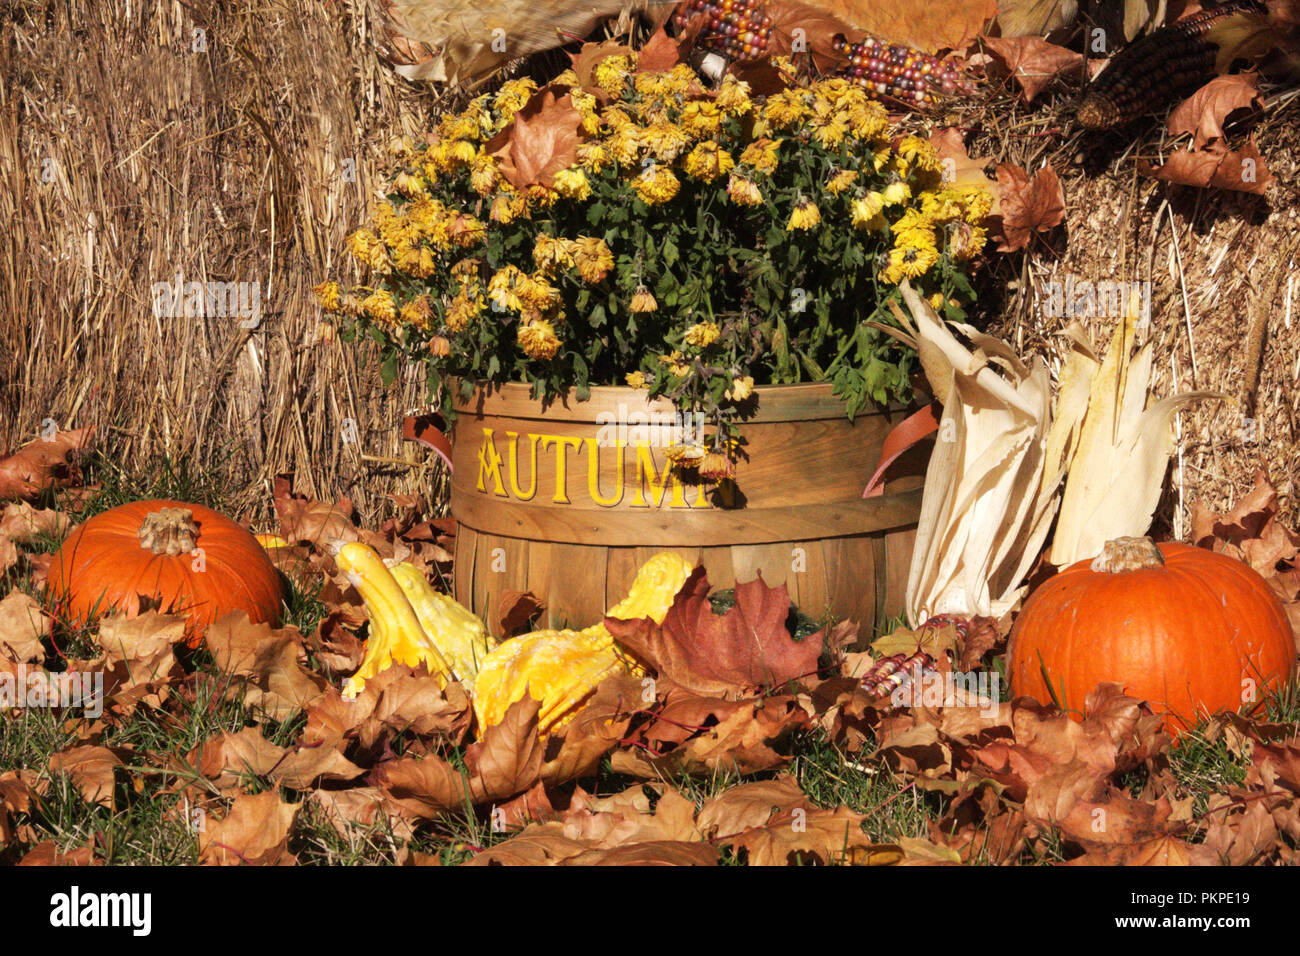
[[546,408],[526,385],[478,390],[458,408],[451,514],[455,596],[497,627],[504,591],[530,591],[547,627],[585,627],[620,601],[662,550],[703,563],[714,587],[785,584],[812,618],[864,627],[900,614],[928,442],[862,498],[885,434],[906,414],[852,423],[829,385],[757,389],[742,424],[736,507],[679,480],[664,447],[675,419],[644,390],[594,388]]

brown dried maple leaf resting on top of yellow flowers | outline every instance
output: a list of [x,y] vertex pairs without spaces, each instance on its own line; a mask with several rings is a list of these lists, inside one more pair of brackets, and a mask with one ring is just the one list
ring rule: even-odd
[[566,86],[543,86],[515,118],[488,144],[484,153],[495,156],[502,176],[523,190],[555,183],[555,173],[577,160],[577,147],[586,137],[582,114]]

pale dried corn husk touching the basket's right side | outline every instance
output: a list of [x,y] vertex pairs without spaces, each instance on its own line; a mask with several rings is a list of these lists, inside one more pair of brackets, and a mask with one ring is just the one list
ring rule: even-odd
[[[907,578],[907,618],[994,615],[1019,597],[1046,538],[1069,441],[1049,438],[1046,364],[967,325],[959,342],[906,284],[904,302],[926,377],[944,406]],[[1071,423],[1065,423],[1069,432]],[[1050,451],[1049,449],[1057,449]],[[1050,462],[1050,467],[1049,467]],[[1048,477],[1045,477],[1045,475]]]

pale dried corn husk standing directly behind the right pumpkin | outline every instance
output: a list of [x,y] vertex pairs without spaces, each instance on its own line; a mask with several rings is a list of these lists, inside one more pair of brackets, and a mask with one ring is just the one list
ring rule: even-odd
[[1071,390],[1078,402],[1088,382],[1087,412],[1070,451],[1070,473],[1049,561],[1063,567],[1095,558],[1113,538],[1145,535],[1174,451],[1174,415],[1214,392],[1186,392],[1150,403],[1152,343],[1136,352],[1136,300],[1119,323],[1102,359],[1083,329],[1067,334],[1074,351],[1062,369],[1062,401]]

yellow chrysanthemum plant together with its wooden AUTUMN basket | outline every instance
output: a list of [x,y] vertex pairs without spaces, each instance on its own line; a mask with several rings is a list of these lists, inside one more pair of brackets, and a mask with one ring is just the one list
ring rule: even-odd
[[965,317],[992,196],[858,86],[775,62],[767,98],[627,48],[477,96],[348,239],[369,284],[317,287],[454,421],[476,611],[516,589],[598,619],[655,549],[814,615],[901,607],[923,462],[862,492],[915,355],[876,325],[904,280]]

